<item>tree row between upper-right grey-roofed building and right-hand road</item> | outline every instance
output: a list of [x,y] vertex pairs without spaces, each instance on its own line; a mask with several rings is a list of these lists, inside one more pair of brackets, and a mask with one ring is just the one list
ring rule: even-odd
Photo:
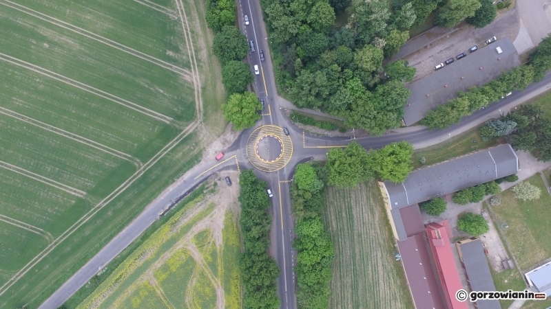
[[469,91],[459,91],[458,98],[440,104],[428,112],[421,124],[430,130],[444,129],[461,121],[461,117],[471,115],[480,108],[503,98],[514,90],[523,91],[531,82],[543,79],[545,71],[551,69],[551,34],[543,38],[536,50],[530,54],[530,63],[502,73],[482,87],[470,87]]

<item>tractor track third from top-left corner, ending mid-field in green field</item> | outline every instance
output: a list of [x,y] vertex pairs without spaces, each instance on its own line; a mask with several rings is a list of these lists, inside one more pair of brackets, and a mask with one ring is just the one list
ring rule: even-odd
[[73,141],[77,141],[81,144],[84,144],[86,146],[90,146],[92,148],[96,148],[97,150],[101,150],[103,152],[106,152],[114,157],[118,157],[120,159],[129,161],[130,163],[134,164],[138,170],[143,167],[143,164],[140,160],[138,160],[136,157],[132,157],[131,155],[127,155],[124,152],[118,151],[116,149],[110,148],[108,146],[105,146],[103,144],[100,144],[96,141],[92,141],[91,139],[87,139],[85,137],[81,137],[80,135],[76,135],[74,133],[70,133],[66,130],[63,130],[61,128],[57,128],[55,126],[52,126],[50,124],[45,124],[44,122],[41,122],[37,119],[33,119],[31,117],[27,117],[23,114],[14,112],[9,110],[8,108],[3,108],[0,106],[0,114],[6,115],[9,117],[12,117],[14,119],[17,119],[21,122],[25,122],[27,124],[32,124],[33,126],[37,126],[43,130],[47,130],[49,132],[55,133],[57,135],[61,135],[62,137],[66,137],[67,139],[72,139]]

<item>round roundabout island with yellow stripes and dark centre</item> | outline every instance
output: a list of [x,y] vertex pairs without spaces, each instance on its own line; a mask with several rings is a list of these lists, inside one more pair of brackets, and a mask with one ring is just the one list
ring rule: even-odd
[[282,169],[293,155],[293,143],[279,126],[260,126],[247,139],[247,157],[258,170]]

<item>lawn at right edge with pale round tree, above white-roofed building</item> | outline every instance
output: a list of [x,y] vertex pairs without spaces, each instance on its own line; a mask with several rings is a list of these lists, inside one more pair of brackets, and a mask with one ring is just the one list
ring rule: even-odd
[[551,230],[543,228],[551,220],[551,196],[540,174],[527,181],[541,189],[541,198],[535,201],[517,200],[512,190],[506,190],[497,195],[501,204],[492,206],[497,227],[501,228],[505,223],[508,225],[502,232],[522,270],[551,257]]

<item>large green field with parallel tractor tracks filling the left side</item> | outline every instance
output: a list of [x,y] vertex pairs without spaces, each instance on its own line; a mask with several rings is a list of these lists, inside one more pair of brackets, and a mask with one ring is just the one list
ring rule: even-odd
[[39,306],[222,133],[203,5],[0,0],[0,308]]

